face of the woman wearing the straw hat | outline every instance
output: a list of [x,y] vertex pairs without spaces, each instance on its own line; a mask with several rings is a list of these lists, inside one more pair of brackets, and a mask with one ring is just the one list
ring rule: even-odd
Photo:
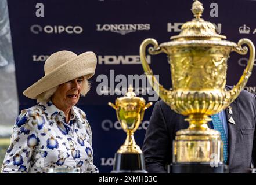
[[74,106],[80,98],[83,82],[84,77],[78,77],[77,79],[60,84],[55,94],[53,94],[52,100],[63,108]]

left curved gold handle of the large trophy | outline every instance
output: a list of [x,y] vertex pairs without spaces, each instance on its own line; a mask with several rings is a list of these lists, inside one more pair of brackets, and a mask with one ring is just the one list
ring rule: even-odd
[[159,97],[165,102],[169,102],[171,91],[166,90],[156,79],[156,77],[153,75],[152,69],[150,69],[149,64],[147,64],[146,59],[146,47],[147,45],[153,45],[153,47],[149,48],[149,54],[159,54],[162,53],[163,50],[161,47],[158,46],[158,43],[155,39],[149,38],[143,40],[143,42],[140,45],[139,48],[139,54],[140,54],[140,60],[142,62],[142,67],[145,72],[145,75],[147,76],[147,79],[149,80],[150,85],[156,91],[156,93],[159,95]]

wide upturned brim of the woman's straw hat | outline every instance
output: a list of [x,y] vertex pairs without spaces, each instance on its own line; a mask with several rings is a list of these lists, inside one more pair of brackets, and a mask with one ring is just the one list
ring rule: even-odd
[[95,53],[91,51],[82,53],[42,77],[28,87],[23,94],[28,98],[37,99],[37,96],[42,92],[77,77],[85,76],[86,79],[89,79],[95,74],[96,65],[97,58]]

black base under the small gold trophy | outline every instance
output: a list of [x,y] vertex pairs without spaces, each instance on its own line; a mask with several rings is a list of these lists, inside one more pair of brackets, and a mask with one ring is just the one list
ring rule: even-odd
[[144,155],[115,154],[113,171],[110,173],[147,173],[145,170]]

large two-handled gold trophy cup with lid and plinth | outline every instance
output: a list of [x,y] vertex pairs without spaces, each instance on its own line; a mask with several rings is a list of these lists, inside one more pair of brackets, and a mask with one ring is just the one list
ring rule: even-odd
[[[241,39],[237,44],[226,41],[225,36],[217,34],[212,23],[200,18],[203,10],[203,5],[194,1],[192,12],[195,18],[182,25],[179,35],[160,45],[150,38],[140,45],[142,66],[154,90],[172,110],[188,116],[185,120],[189,122],[189,128],[176,132],[172,160],[174,173],[224,172],[221,136],[218,131],[208,128],[207,123],[212,120],[209,116],[226,109],[237,98],[254,64],[253,43],[248,39]],[[168,55],[171,90],[158,83],[147,64],[145,52],[148,45],[153,45],[149,48],[150,54]],[[248,64],[236,86],[226,90],[229,54],[232,51],[247,54],[248,48],[242,45],[248,45],[250,50]],[[214,168],[211,168],[212,162]]]

